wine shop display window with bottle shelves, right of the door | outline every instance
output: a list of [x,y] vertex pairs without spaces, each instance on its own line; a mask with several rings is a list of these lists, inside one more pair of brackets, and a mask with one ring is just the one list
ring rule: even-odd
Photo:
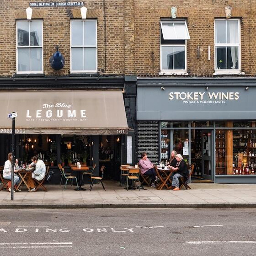
[[255,174],[255,129],[217,129],[215,142],[216,175]]

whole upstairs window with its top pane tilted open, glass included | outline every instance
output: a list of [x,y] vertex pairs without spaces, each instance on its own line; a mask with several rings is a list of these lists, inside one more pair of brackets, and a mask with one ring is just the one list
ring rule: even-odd
[[186,21],[160,22],[161,73],[185,73],[187,70],[187,40],[190,39]]

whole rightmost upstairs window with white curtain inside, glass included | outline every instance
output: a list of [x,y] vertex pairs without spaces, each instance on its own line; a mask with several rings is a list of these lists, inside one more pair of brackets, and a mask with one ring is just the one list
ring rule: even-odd
[[214,23],[215,71],[240,71],[240,20],[216,19]]

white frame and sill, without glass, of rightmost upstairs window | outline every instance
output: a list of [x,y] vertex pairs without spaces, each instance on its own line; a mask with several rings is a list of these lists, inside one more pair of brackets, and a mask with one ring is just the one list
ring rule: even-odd
[[[238,21],[238,43],[216,43],[216,22],[215,21]],[[227,33],[227,32],[226,32]],[[238,69],[216,69],[217,47],[238,47]],[[227,54],[227,53],[226,53]],[[228,58],[227,58],[228,59]],[[240,74],[241,73],[241,22],[240,19],[214,19],[214,71],[218,74]]]

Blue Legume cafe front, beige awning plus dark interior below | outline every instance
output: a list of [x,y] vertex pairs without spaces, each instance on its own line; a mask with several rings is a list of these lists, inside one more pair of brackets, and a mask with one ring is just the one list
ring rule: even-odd
[[59,163],[80,161],[96,164],[97,174],[100,165],[112,170],[122,161],[129,129],[122,90],[1,91],[0,109],[1,165],[11,150],[12,112],[15,155],[23,163],[39,155],[58,172]]

